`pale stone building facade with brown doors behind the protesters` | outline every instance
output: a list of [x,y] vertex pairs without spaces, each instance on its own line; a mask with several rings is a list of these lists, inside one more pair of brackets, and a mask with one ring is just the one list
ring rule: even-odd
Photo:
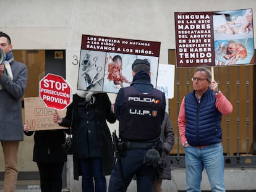
[[[76,90],[82,34],[159,41],[159,63],[175,65],[174,12],[236,9],[256,11],[255,0],[2,0],[0,6],[4,7],[0,30],[11,36],[15,59],[28,66],[28,87],[24,97],[38,96],[38,82],[48,72],[62,75],[72,86],[73,91]],[[255,12],[253,15],[256,16]],[[56,57],[57,53],[61,53],[62,57]],[[191,90],[192,83],[187,80],[191,74],[192,69],[176,70],[175,96],[174,99],[169,99],[166,108],[176,132],[176,143],[170,160],[173,163],[172,182],[176,183],[177,190],[185,189],[182,180],[184,151],[179,141],[176,120],[179,103]],[[234,107],[232,115],[223,117],[225,173],[232,175],[236,172],[237,178],[239,173],[240,176],[245,175],[241,176],[244,182],[254,183],[249,190],[256,190],[254,177],[246,177],[245,173],[256,173],[255,74],[255,65],[215,68],[215,79]],[[115,95],[109,94],[109,97],[114,102]],[[111,130],[118,130],[118,123],[109,127]],[[19,149],[19,180],[38,180],[38,170],[32,162],[32,155],[33,138],[25,136]],[[1,153],[0,157],[2,159]],[[3,164],[0,164],[0,173],[3,170]],[[175,177],[175,173],[181,174],[181,177]],[[64,178],[64,188],[79,191],[80,182],[74,182],[72,178],[71,158],[67,162]],[[234,174],[232,178],[234,183],[239,180]],[[239,182],[241,183],[237,185],[244,186],[243,180],[240,179]],[[236,188],[234,185],[230,186],[227,190]],[[206,185],[206,190],[207,187]],[[247,186],[239,190],[247,190]]]

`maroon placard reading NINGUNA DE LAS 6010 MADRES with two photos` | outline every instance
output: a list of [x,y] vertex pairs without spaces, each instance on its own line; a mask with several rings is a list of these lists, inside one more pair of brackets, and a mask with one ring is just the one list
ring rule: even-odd
[[252,9],[174,17],[177,67],[255,64]]

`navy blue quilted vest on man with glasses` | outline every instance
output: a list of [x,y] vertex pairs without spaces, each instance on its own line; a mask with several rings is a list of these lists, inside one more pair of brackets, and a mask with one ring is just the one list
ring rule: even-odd
[[191,146],[220,143],[222,114],[215,106],[215,95],[211,90],[207,90],[198,103],[194,93],[185,97],[187,142]]

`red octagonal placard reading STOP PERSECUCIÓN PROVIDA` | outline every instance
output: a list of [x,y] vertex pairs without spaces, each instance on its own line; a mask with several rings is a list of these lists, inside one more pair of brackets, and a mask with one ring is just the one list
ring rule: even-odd
[[48,73],[40,80],[39,96],[46,107],[63,110],[71,102],[71,88],[61,76]]

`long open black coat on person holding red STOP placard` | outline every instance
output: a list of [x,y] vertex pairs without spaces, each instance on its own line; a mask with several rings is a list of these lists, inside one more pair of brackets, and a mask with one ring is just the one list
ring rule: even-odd
[[[95,107],[95,125],[98,133],[99,140],[96,140],[95,144],[100,146],[100,151],[98,154],[102,157],[103,160],[103,172],[105,175],[110,175],[111,170],[114,166],[114,152],[113,152],[113,142],[111,138],[111,133],[109,131],[106,120],[109,123],[116,122],[116,117],[114,117],[114,113],[111,111],[111,101],[108,98],[108,94],[106,93],[97,93],[93,94],[95,97],[95,103],[92,105]],[[72,121],[72,135],[73,135],[73,143],[74,143],[74,154],[73,154],[73,162],[74,162],[74,179],[79,180],[79,176],[81,175],[79,172],[79,150],[81,151],[81,147],[79,145],[79,109],[78,104],[81,102],[81,99],[77,94],[74,94],[73,102],[70,106],[67,107],[66,117],[64,117],[61,125],[62,127],[70,127],[72,112],[74,110],[73,121]],[[93,146],[93,143],[90,143],[90,146]],[[80,149],[79,149],[80,147]]]

